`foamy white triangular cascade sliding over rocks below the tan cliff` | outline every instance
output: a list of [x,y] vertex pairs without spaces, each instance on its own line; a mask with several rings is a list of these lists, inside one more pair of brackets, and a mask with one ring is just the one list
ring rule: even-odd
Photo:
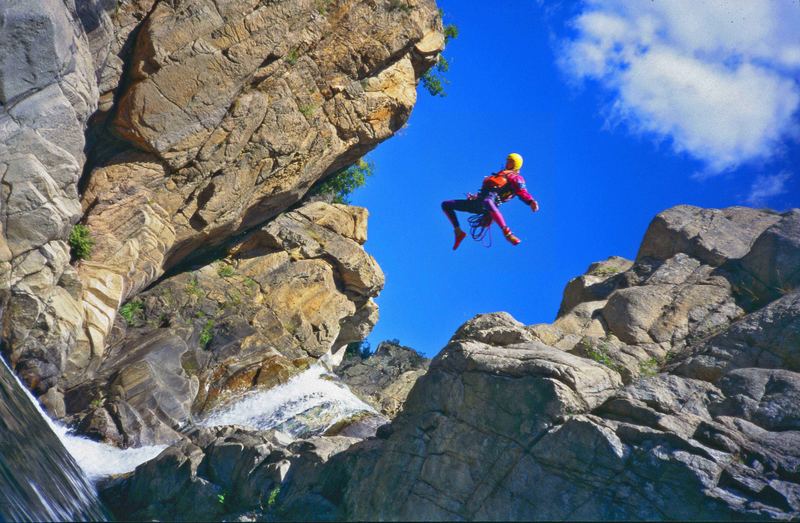
[[245,395],[201,422],[207,427],[239,425],[276,429],[293,437],[321,434],[360,413],[377,415],[321,364],[312,365],[288,382]]

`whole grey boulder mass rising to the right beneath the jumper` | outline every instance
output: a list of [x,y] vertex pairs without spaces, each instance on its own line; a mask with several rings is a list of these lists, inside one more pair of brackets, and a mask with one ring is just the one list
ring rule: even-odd
[[[796,519],[798,267],[798,210],[669,209],[635,261],[610,258],[570,281],[554,323],[476,316],[377,437],[284,446],[270,494],[236,509],[293,520]],[[209,478],[212,455],[198,452],[194,477]],[[166,459],[110,499],[171,474]],[[234,491],[273,466],[247,463],[211,482]],[[125,510],[154,514],[141,499]]]

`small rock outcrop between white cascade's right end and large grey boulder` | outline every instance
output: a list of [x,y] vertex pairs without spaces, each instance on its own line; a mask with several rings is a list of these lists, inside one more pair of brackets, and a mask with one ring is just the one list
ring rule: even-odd
[[335,372],[358,397],[394,418],[429,364],[430,360],[414,349],[382,341],[366,358],[345,354]]

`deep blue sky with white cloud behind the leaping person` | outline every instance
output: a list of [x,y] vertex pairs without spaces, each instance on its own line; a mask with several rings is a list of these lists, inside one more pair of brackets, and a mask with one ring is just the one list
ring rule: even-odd
[[[482,312],[551,322],[570,278],[635,257],[673,205],[800,206],[796,0],[438,4],[460,30],[447,96],[420,89],[352,197],[386,273],[373,347],[397,338],[432,356]],[[510,152],[542,210],[501,208],[517,247],[495,227],[491,248],[452,252],[441,201]]]

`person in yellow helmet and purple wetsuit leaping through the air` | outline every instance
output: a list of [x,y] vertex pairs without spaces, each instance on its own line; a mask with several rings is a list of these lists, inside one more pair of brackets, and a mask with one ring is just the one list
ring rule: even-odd
[[461,226],[458,224],[456,211],[477,215],[470,218],[470,224],[473,229],[472,236],[476,240],[482,238],[483,234],[482,232],[476,232],[476,230],[486,230],[492,222],[495,222],[500,226],[506,240],[512,245],[519,245],[520,239],[512,234],[497,207],[501,203],[511,200],[514,196],[519,196],[520,200],[529,205],[533,212],[539,210],[539,204],[525,189],[525,179],[519,174],[521,167],[522,156],[517,153],[511,153],[506,159],[506,168],[484,178],[481,190],[477,195],[469,194],[466,200],[447,200],[442,202],[442,210],[447,215],[450,223],[453,224],[453,230],[456,235],[453,250],[458,249],[458,246],[467,236],[467,233],[461,230]]

